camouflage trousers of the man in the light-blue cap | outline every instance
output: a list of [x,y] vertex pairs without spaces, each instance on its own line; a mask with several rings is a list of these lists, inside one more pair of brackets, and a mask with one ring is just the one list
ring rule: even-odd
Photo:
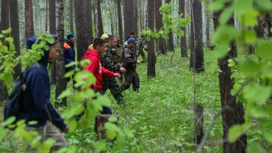
[[123,92],[126,89],[129,89],[129,87],[132,84],[132,89],[134,91],[138,91],[140,88],[140,79],[138,76],[138,73],[134,70],[127,70],[124,74],[125,83],[120,85],[121,92]]

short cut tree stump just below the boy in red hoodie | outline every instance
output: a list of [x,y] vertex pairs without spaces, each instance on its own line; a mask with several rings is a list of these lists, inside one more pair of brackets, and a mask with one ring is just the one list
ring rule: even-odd
[[107,139],[106,130],[103,130],[103,126],[106,122],[108,122],[108,118],[111,116],[117,117],[117,122],[115,123],[117,126],[119,125],[119,116],[110,115],[110,114],[102,114],[95,116],[95,133],[97,134],[97,140]]

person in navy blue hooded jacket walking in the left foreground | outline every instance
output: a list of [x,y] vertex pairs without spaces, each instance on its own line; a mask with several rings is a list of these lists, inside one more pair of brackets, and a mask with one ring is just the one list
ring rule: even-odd
[[[36,42],[38,36],[31,37],[27,40],[28,48]],[[25,77],[26,88],[23,92],[24,107],[28,109],[28,118],[22,118],[27,121],[37,121],[37,124],[29,125],[28,130],[35,130],[41,135],[41,142],[47,138],[56,140],[56,143],[51,148],[51,151],[59,150],[67,146],[67,141],[59,132],[59,128],[63,132],[69,131],[69,125],[64,123],[64,120],[53,108],[50,102],[50,79],[48,75],[48,62],[53,62],[59,55],[58,51],[61,49],[61,44],[56,35],[52,35],[54,43],[46,44],[50,47],[49,51],[44,50],[44,56],[38,61],[39,68],[33,68]],[[33,64],[34,66],[34,64]],[[52,123],[57,127],[55,128]],[[35,152],[35,149],[27,147],[27,150]]]

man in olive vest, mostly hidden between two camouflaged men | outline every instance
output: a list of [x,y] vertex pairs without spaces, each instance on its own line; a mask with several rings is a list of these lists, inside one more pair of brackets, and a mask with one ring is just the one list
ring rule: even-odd
[[[116,37],[117,38],[117,45],[114,46],[114,49],[112,49],[113,51],[113,61],[115,65],[120,65],[122,66],[122,52],[123,52],[123,48],[121,47],[120,44],[120,37]],[[120,74],[120,81],[123,82],[123,74]]]

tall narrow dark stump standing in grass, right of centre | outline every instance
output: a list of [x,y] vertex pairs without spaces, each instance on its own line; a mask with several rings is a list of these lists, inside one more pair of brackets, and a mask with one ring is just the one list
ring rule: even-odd
[[199,144],[203,137],[203,107],[197,105],[194,112],[194,143]]

